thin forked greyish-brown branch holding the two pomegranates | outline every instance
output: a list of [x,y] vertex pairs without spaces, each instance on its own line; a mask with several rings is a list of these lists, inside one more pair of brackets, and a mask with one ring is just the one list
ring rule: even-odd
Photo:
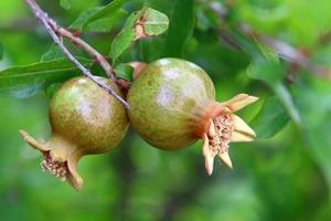
[[[68,31],[66,31],[63,28],[57,27],[56,22],[54,20],[52,20],[51,18],[49,18],[47,13],[44,12],[39,4],[35,2],[35,0],[24,0],[26,2],[26,4],[31,8],[32,12],[34,13],[34,15],[42,22],[42,24],[44,25],[44,28],[46,29],[46,31],[49,32],[49,34],[52,36],[53,41],[58,45],[58,48],[62,50],[62,52],[83,72],[83,74],[85,76],[87,76],[88,78],[90,78],[94,83],[96,83],[99,87],[106,90],[110,95],[113,95],[117,101],[119,101],[120,103],[122,103],[122,105],[129,109],[129,104],[118,94],[116,94],[114,92],[113,88],[110,88],[109,86],[107,86],[106,84],[104,84],[103,82],[99,82],[98,78],[96,76],[94,76],[89,70],[87,70],[83,64],[81,64],[76,57],[65,48],[65,45],[63,44],[62,40],[57,36],[56,32],[60,34],[63,34],[70,39],[72,39],[74,42],[78,43],[79,45],[82,45],[82,48],[84,48],[88,53],[93,53],[93,55],[96,55],[95,53],[97,53],[98,55],[95,59],[100,59],[103,57],[102,55],[99,55],[98,52],[96,52],[92,46],[89,46],[86,42],[84,42],[83,40],[81,40],[79,38],[74,36],[72,33],[70,33]],[[100,56],[100,57],[99,57]],[[105,59],[103,57],[104,61]],[[106,61],[106,60],[105,60]],[[108,63],[108,62],[106,62]],[[111,66],[108,64],[106,64],[105,62],[103,62],[103,67],[107,67],[105,71],[106,72],[110,72],[113,73]],[[113,75],[113,74],[111,74]],[[115,80],[115,76],[113,75],[111,77],[113,80]]]

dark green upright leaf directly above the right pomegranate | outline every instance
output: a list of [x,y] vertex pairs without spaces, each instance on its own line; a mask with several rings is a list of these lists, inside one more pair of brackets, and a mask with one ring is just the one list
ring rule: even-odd
[[194,1],[177,0],[164,43],[163,56],[179,57],[184,51],[194,25]]

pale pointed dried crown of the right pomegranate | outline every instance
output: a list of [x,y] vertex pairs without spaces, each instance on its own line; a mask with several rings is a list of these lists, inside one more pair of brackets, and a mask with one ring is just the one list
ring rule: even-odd
[[[216,103],[212,102],[206,106],[206,110],[200,114],[203,139],[203,156],[205,158],[205,169],[209,175],[213,172],[214,157],[220,159],[231,169],[232,160],[228,155],[231,141],[252,141],[255,131],[233,112],[238,110],[258,98],[247,94],[238,94],[233,98]],[[207,120],[206,120],[207,119]]]

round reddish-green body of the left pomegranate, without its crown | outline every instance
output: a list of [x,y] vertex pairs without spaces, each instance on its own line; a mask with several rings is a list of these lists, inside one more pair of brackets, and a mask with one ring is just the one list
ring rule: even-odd
[[[107,80],[99,81],[121,94]],[[126,135],[128,119],[122,104],[87,77],[63,84],[50,105],[52,134],[77,146],[84,154],[99,154],[114,148]]]

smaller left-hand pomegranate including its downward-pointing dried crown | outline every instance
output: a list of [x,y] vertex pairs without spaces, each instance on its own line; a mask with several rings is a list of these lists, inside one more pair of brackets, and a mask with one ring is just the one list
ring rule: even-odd
[[[121,95],[114,82],[98,78]],[[77,190],[83,186],[76,171],[79,158],[110,150],[128,128],[122,104],[84,76],[65,82],[54,94],[50,123],[49,141],[36,141],[26,131],[20,133],[29,145],[43,152],[42,168],[67,180]]]

